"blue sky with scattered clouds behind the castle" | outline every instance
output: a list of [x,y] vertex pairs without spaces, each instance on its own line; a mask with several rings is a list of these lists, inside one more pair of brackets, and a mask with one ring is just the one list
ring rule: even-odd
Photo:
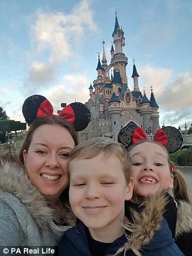
[[115,11],[125,37],[127,79],[135,60],[139,87],[159,105],[159,125],[192,123],[191,0],[1,0],[0,107],[24,122],[22,105],[33,94],[85,103],[97,78],[102,41],[110,63]]

